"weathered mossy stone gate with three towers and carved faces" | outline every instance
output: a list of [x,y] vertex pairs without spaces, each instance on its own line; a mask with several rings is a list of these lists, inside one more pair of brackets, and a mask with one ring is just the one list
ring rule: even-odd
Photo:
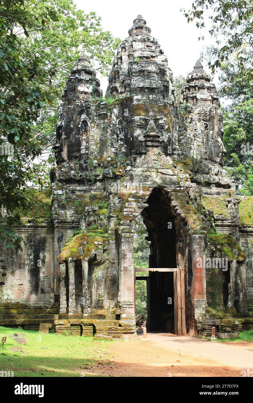
[[222,111],[199,60],[180,104],[174,92],[141,16],[106,99],[85,56],[75,64],[58,110],[52,195],[33,192],[36,208],[17,229],[23,251],[1,247],[0,325],[134,335],[141,214],[149,328],[208,336],[216,326],[221,337],[253,328],[253,197],[236,195],[222,168]]

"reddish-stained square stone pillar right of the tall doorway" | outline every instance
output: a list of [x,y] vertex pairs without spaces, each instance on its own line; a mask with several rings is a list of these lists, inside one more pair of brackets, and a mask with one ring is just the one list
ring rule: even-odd
[[192,300],[195,319],[205,313],[206,280],[205,280],[205,245],[203,235],[192,235],[193,289]]

